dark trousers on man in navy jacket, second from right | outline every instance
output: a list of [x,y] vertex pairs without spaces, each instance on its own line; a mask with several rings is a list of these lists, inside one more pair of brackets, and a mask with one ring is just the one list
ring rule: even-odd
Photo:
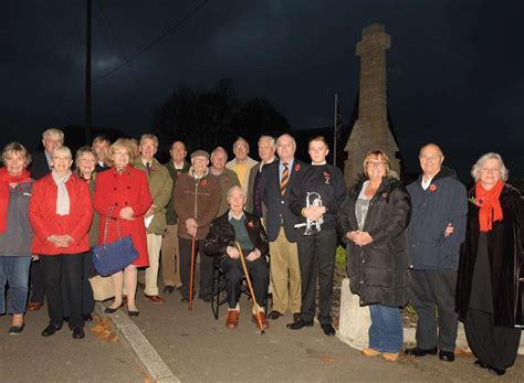
[[[459,315],[454,311],[457,272],[410,269],[409,296],[417,321],[417,347],[454,351]],[[438,327],[438,336],[437,336]]]

